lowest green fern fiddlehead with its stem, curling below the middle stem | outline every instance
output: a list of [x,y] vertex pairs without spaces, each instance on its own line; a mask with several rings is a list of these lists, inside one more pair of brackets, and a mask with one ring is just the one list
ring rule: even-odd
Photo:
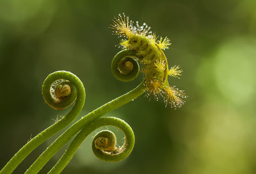
[[48,174],[60,173],[72,159],[76,150],[84,141],[84,138],[92,133],[92,131],[102,126],[115,126],[118,127],[118,129],[121,129],[125,134],[125,143],[122,147],[117,148],[115,134],[108,130],[100,131],[94,136],[92,141],[92,149],[95,156],[99,157],[99,159],[102,159],[103,161],[111,162],[121,161],[129,156],[134,147],[135,140],[134,133],[129,124],[116,117],[99,118],[89,124],[88,127],[84,127],[84,129],[77,134],[66,152]]

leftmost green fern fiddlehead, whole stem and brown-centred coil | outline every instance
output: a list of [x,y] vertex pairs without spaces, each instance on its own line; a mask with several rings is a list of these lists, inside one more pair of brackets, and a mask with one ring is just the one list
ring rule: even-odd
[[[54,87],[56,86],[56,93],[54,93]],[[0,171],[1,174],[12,173],[22,160],[36,149],[38,145],[66,127],[72,120],[76,119],[83,108],[85,99],[83,83],[76,75],[67,71],[56,71],[48,75],[42,85],[42,95],[44,96],[46,103],[56,110],[66,108],[73,103],[75,99],[76,104],[67,115],[62,117],[61,120],[58,120],[58,122],[55,122],[52,126],[35,136],[35,138],[28,141],[28,143],[26,143],[26,145],[24,145],[24,147],[22,147],[4,166]]]

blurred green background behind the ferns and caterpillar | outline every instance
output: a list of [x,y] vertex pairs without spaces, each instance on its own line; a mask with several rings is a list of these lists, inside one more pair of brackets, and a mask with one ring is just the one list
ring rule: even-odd
[[[254,0],[1,0],[0,168],[70,110],[54,111],[44,103],[41,85],[49,73],[64,69],[81,78],[86,103],[79,118],[140,83],[142,75],[119,82],[111,74],[120,39],[109,24],[124,12],[172,40],[165,51],[168,64],[180,65],[184,73],[169,82],[189,98],[173,110],[141,96],[108,113],[134,130],[132,154],[119,163],[102,162],[93,156],[91,134],[63,174],[256,173],[255,11]],[[24,173],[54,138],[14,173]],[[61,152],[40,173],[47,173]]]

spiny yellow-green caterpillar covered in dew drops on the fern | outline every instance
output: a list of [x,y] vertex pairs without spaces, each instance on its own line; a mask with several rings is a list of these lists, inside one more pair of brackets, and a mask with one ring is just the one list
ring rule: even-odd
[[145,75],[145,87],[147,96],[152,94],[158,99],[161,96],[166,105],[176,108],[184,104],[187,96],[184,91],[171,87],[168,83],[168,76],[179,78],[182,73],[180,66],[173,66],[168,69],[168,62],[163,50],[171,45],[170,40],[160,37],[150,31],[150,27],[143,23],[142,26],[125,14],[118,15],[110,25],[113,33],[122,37],[120,45],[127,50],[134,50],[141,57],[138,61],[142,65],[141,71]]

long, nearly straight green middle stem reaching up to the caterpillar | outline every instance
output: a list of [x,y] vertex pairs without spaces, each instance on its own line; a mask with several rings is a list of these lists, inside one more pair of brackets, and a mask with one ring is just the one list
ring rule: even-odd
[[51,159],[56,152],[58,152],[59,149],[65,143],[70,140],[75,134],[77,134],[82,128],[88,128],[88,125],[93,122],[93,120],[98,119],[102,115],[105,115],[108,112],[111,112],[111,110],[114,110],[122,105],[125,105],[129,101],[132,101],[132,99],[138,98],[141,94],[145,92],[145,86],[144,81],[138,85],[135,89],[133,89],[130,92],[127,92],[126,94],[113,99],[112,101],[109,101],[105,105],[100,106],[96,110],[93,110],[93,112],[88,113],[86,116],[82,117],[80,120],[78,120],[75,124],[73,124],[70,128],[67,129],[61,136],[56,139],[39,157],[36,159],[35,163],[33,163],[28,170],[26,171],[26,174],[31,173],[38,173],[38,171],[41,170],[41,168]]

